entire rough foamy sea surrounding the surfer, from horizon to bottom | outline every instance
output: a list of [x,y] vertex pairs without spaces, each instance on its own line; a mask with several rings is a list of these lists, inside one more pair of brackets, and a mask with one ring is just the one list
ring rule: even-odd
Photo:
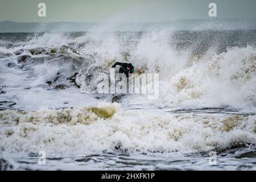
[[[255,170],[255,43],[254,30],[2,33],[1,168]],[[115,61],[159,73],[158,99],[95,93]]]

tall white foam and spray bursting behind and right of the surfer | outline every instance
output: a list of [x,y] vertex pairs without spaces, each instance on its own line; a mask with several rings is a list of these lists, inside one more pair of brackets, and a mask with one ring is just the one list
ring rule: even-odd
[[[93,36],[93,42],[98,41],[98,36]],[[123,59],[119,52],[125,46],[117,44],[113,35],[106,37],[108,41],[85,48],[86,52],[96,52],[97,55],[80,69],[76,81],[82,92],[95,88],[98,73],[108,72],[114,61]],[[200,55],[193,50],[174,50],[169,39],[172,39],[170,32],[150,32],[137,40],[135,46],[128,46],[129,62],[135,65],[135,77],[139,77],[140,72],[159,73],[160,97],[157,101],[150,101],[132,95],[125,103],[178,108],[255,107],[256,50],[253,46],[233,47],[216,53],[213,45],[207,53]],[[96,67],[100,67],[100,71],[93,69]],[[89,83],[85,81],[88,75],[93,77]]]

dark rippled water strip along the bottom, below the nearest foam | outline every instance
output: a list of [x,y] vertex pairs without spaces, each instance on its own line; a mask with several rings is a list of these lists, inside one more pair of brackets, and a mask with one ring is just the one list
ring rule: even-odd
[[20,170],[255,170],[256,152],[247,147],[233,148],[217,155],[209,164],[208,154],[171,155],[92,154],[47,158],[39,165],[37,157],[18,158]]

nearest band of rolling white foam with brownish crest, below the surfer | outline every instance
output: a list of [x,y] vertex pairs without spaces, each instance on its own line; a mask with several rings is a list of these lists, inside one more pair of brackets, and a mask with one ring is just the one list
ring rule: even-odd
[[15,156],[102,151],[201,152],[256,143],[256,117],[156,114],[118,104],[73,109],[0,111],[0,147]]

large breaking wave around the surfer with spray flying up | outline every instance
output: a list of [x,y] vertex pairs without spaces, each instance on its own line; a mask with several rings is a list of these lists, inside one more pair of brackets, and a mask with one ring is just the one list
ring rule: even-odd
[[20,35],[23,39],[16,42],[10,36],[0,44],[0,90],[9,100],[16,88],[32,96],[73,85],[92,93],[100,73],[109,73],[115,61],[129,61],[134,77],[159,73],[159,98],[130,94],[122,98],[125,104],[176,109],[256,105],[254,31],[42,33]]

